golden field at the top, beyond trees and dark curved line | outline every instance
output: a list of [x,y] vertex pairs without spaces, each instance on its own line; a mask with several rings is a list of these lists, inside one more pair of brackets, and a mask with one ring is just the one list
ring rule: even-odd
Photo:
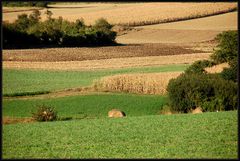
[[[70,21],[83,18],[86,24],[93,24],[98,18],[104,17],[112,24],[139,26],[224,13],[235,10],[237,3],[79,3],[56,4],[49,7],[53,17],[62,16]],[[45,11],[46,9],[41,10],[42,13]],[[14,21],[17,18],[16,13],[31,12],[4,13],[3,20]],[[42,17],[42,19],[45,18],[45,16]]]

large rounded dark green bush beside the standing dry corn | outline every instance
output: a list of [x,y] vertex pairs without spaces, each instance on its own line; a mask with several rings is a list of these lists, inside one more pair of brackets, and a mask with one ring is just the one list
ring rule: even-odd
[[237,84],[217,74],[182,74],[169,81],[167,91],[173,111],[237,109]]

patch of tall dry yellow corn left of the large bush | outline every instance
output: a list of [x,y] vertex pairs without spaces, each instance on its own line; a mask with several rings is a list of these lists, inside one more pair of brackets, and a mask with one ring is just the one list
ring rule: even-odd
[[128,92],[139,94],[166,94],[168,82],[182,72],[121,74],[107,76],[95,82],[94,88],[100,91]]

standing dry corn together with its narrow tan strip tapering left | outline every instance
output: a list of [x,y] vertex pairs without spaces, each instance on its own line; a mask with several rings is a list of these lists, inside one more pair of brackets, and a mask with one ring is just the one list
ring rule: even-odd
[[[11,96],[11,97],[4,96],[3,99],[4,100],[49,99],[75,95],[111,94],[111,92],[164,95],[166,94],[166,87],[168,81],[172,78],[176,78],[181,73],[182,72],[119,74],[114,76],[103,77],[102,79],[96,81],[94,84],[88,87],[69,88],[64,90],[52,91],[46,94],[32,96]],[[123,89],[120,88],[120,86],[122,86]]]

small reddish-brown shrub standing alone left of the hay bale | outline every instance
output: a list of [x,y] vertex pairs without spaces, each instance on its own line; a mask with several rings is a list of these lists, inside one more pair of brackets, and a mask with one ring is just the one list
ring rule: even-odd
[[32,117],[37,121],[54,121],[57,120],[57,112],[54,108],[41,105],[36,113],[32,113]]

